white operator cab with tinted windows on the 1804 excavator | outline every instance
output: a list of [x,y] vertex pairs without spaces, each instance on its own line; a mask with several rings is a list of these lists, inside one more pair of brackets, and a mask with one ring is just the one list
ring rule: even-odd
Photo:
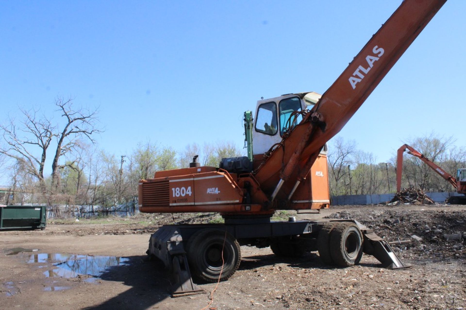
[[[272,145],[279,143],[289,129],[291,113],[312,109],[321,97],[317,92],[300,92],[257,101],[253,155],[264,154]],[[301,120],[300,115],[297,123]]]

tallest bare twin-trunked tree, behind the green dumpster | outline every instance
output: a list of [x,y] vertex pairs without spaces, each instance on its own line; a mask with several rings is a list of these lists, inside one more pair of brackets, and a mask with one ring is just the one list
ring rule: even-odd
[[[50,193],[58,194],[60,188],[60,171],[65,167],[61,164],[63,157],[84,148],[83,141],[89,140],[94,144],[92,135],[101,132],[96,127],[97,111],[88,111],[73,106],[72,99],[55,100],[55,106],[64,120],[61,124],[53,124],[51,118],[39,113],[37,109],[21,111],[21,121],[8,119],[7,125],[0,125],[3,143],[0,154],[12,158],[21,164],[23,171],[33,176],[40,184],[42,194],[47,193],[44,168],[51,145],[56,142],[56,149],[52,156],[52,179]],[[73,163],[73,162],[72,162]],[[50,198],[52,199],[52,198]],[[49,202],[51,201],[49,199]]]

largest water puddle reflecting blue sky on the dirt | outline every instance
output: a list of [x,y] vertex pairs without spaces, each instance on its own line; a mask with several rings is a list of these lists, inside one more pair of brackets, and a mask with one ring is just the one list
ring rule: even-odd
[[[113,266],[127,265],[129,258],[116,256],[90,256],[90,255],[75,255],[75,254],[33,254],[29,257],[27,263],[47,263],[59,262],[53,264],[53,267],[44,271],[46,277],[64,277],[74,278],[81,276],[100,277],[103,272]],[[96,280],[91,280],[92,277],[85,278],[83,281],[96,283]]]

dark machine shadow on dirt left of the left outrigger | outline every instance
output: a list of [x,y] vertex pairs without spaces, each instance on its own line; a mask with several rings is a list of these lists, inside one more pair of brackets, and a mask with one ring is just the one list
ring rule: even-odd
[[[150,309],[156,303],[171,298],[167,287],[170,286],[166,270],[161,262],[144,262],[145,256],[130,256],[128,265],[114,266],[106,270],[101,279],[123,282],[129,286],[126,290],[109,300],[85,310],[107,309]],[[98,284],[96,284],[98,285]],[[97,289],[97,288],[96,288]],[[111,294],[111,292],[109,292]]]

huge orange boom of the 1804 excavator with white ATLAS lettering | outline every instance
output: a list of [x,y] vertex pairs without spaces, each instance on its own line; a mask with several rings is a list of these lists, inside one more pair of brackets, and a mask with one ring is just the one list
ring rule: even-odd
[[[322,146],[343,128],[445,1],[403,1],[317,105],[256,169],[254,178],[262,191],[272,199],[287,198],[295,186],[296,171],[312,165]],[[281,188],[285,190],[280,193]]]

